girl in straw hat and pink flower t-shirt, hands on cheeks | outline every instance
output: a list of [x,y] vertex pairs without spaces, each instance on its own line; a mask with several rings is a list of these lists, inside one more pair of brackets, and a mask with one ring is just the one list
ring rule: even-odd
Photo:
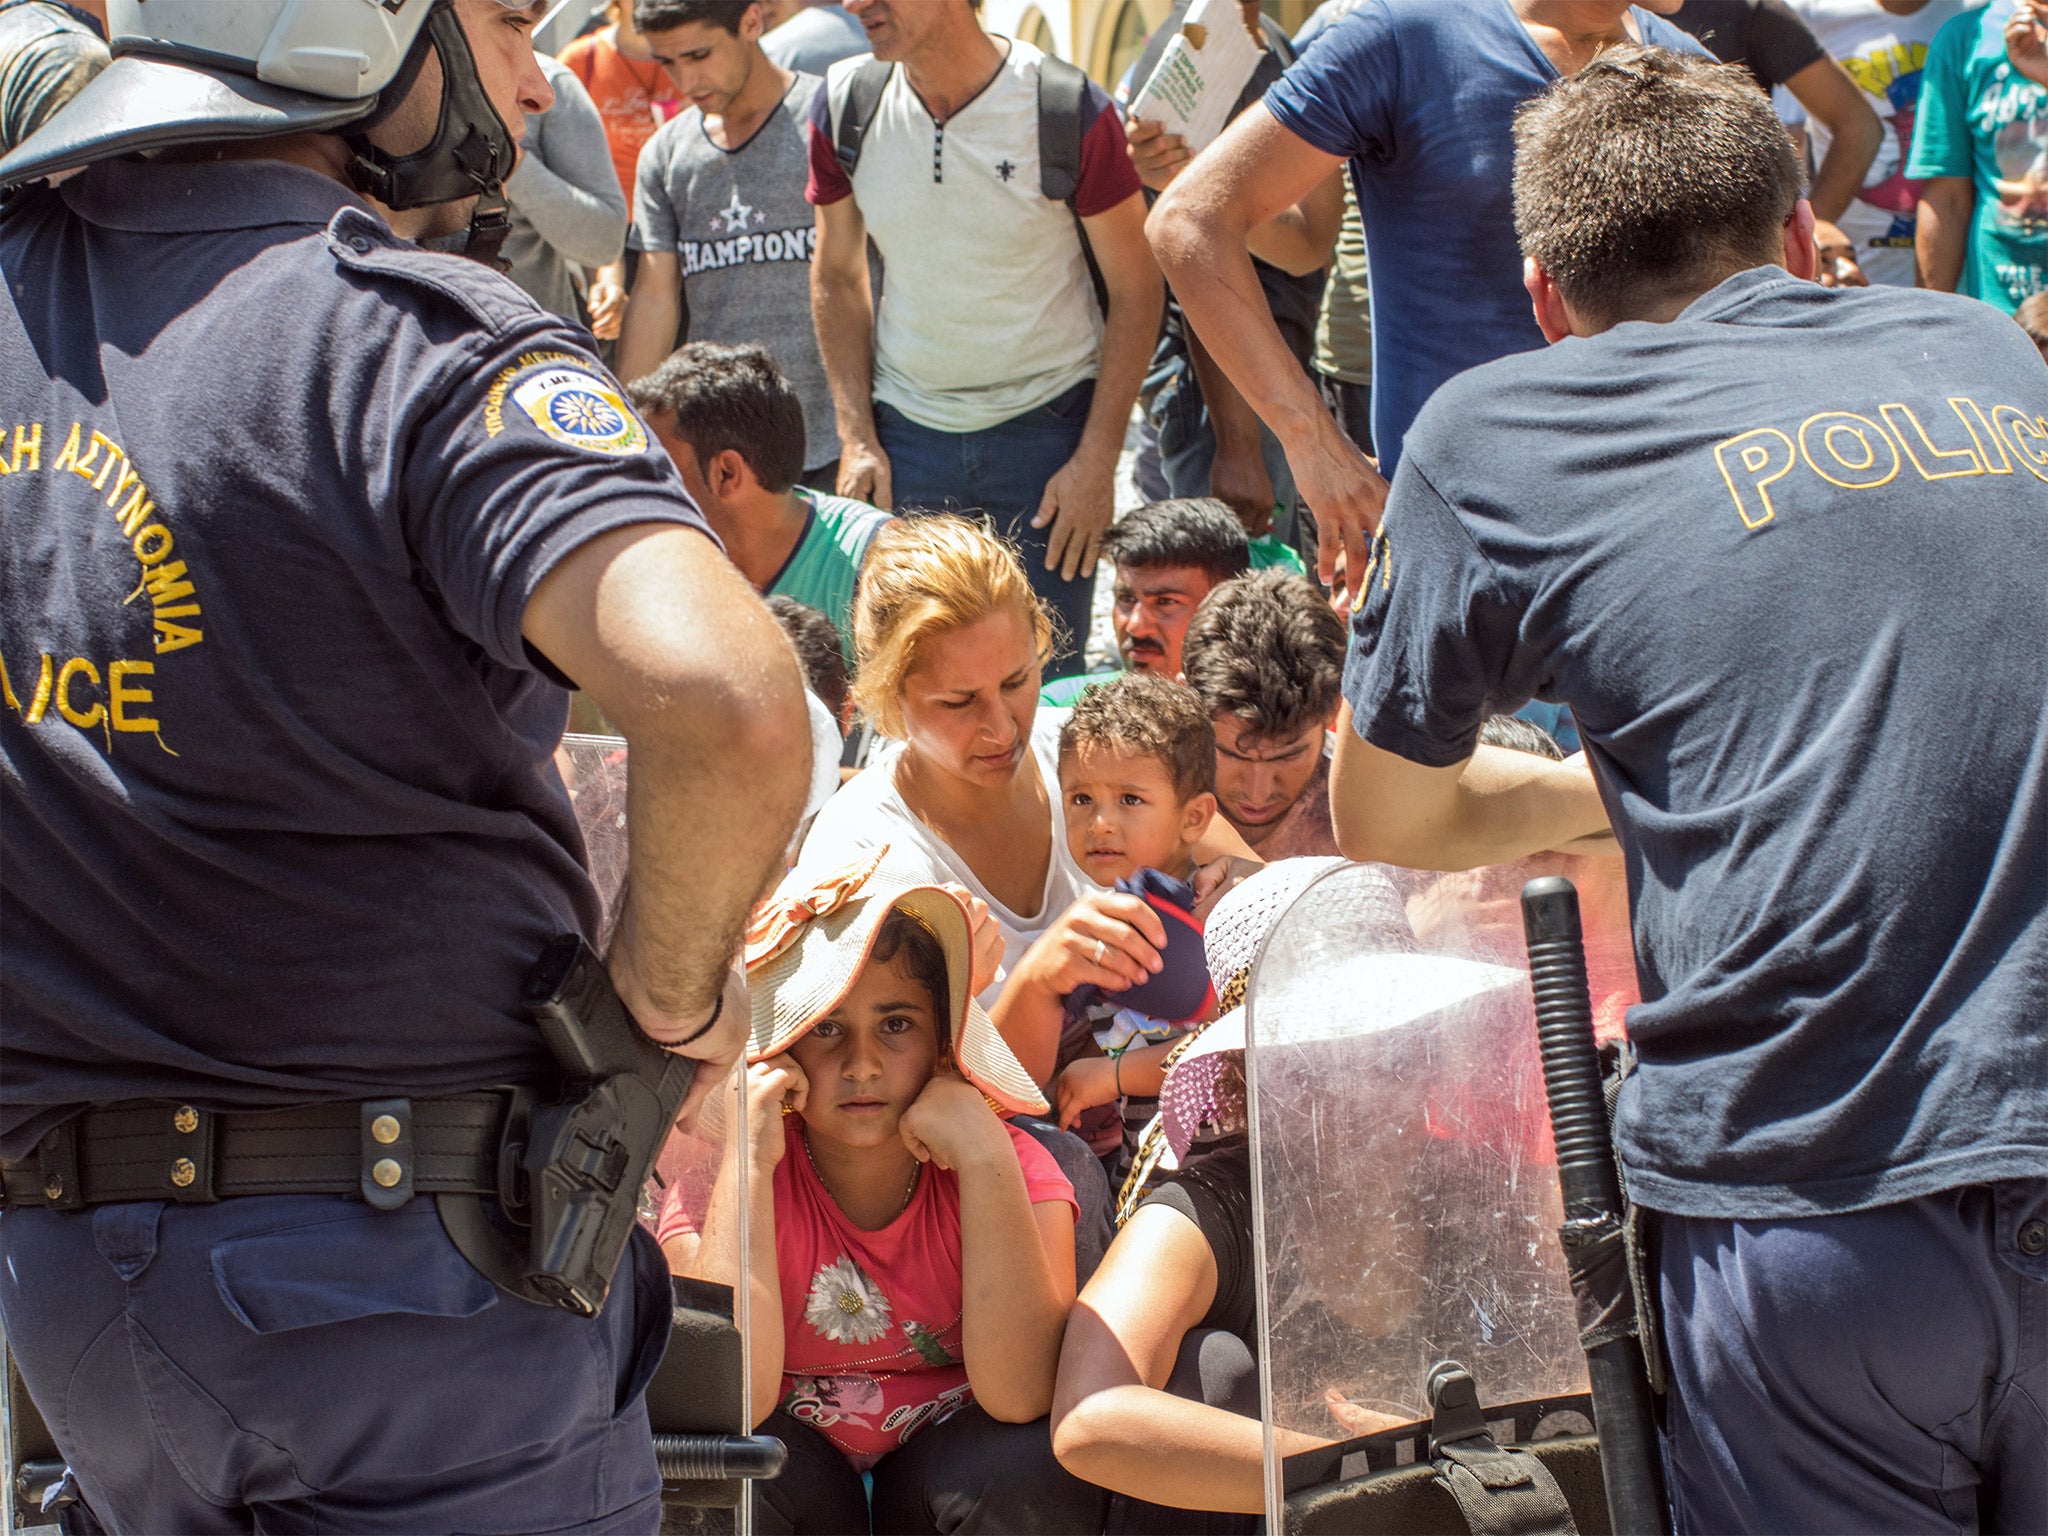
[[[791,1450],[760,1530],[1077,1530],[1044,1419],[1073,1305],[1073,1188],[1004,1112],[1044,1112],[973,1001],[963,899],[887,850],[748,934],[750,1417]],[[983,961],[987,967],[987,961]],[[727,1182],[670,1264],[739,1274]],[[979,1520],[977,1520],[979,1516]]]

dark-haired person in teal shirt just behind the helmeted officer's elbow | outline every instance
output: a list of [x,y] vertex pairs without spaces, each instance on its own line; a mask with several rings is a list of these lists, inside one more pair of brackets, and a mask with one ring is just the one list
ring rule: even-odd
[[852,668],[860,563],[893,518],[797,483],[803,401],[774,358],[760,346],[690,342],[627,395],[739,573],[762,596],[825,614]]

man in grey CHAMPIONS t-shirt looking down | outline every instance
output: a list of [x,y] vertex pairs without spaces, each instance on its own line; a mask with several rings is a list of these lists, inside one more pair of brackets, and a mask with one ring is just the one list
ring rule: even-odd
[[819,80],[762,53],[760,4],[637,0],[633,20],[686,109],[641,150],[627,236],[641,256],[618,377],[653,373],[680,340],[766,348],[803,401],[811,479],[840,457],[811,330],[817,233],[803,197]]

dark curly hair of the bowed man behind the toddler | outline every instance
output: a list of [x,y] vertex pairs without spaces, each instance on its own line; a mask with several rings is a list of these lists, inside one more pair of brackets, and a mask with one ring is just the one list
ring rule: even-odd
[[1241,721],[1253,741],[1286,741],[1337,707],[1343,647],[1343,621],[1315,582],[1268,569],[1202,598],[1180,674],[1210,717]]

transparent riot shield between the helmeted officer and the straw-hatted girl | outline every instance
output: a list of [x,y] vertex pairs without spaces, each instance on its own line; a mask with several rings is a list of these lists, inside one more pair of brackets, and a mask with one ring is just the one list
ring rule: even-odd
[[[627,879],[627,743],[567,735],[555,766],[575,805],[590,879],[610,932]],[[666,1520],[692,1530],[752,1530],[745,1479],[764,1466],[750,1442],[750,1253],[745,1067],[737,1065],[698,1112],[678,1122],[641,1190],[641,1223],[662,1241],[674,1313],[668,1356],[647,1386],[662,1464],[662,1499],[676,1509],[731,1511]],[[770,1458],[774,1460],[774,1458]]]

